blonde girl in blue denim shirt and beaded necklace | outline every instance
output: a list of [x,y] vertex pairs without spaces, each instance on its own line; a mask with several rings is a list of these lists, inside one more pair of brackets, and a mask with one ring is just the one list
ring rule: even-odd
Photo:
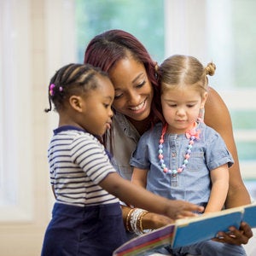
[[[233,159],[218,132],[200,118],[207,101],[207,75],[215,73],[215,65],[203,67],[195,57],[172,55],[157,73],[165,122],[140,138],[131,158],[132,183],[168,199],[203,206],[206,213],[221,211]],[[173,255],[246,255],[241,246],[212,240],[169,250]]]

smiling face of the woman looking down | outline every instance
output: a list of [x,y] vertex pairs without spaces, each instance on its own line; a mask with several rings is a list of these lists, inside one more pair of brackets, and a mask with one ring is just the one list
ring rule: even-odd
[[114,87],[113,108],[129,119],[148,118],[153,88],[143,63],[127,57],[115,64],[109,76]]

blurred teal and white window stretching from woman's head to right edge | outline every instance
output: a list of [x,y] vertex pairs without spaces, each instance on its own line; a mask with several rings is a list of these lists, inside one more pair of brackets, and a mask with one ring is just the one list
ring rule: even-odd
[[[78,58],[90,38],[120,28],[134,34],[156,61],[172,54],[213,61],[210,84],[230,108],[241,172],[256,179],[256,16],[253,1],[76,1]],[[218,18],[217,18],[218,17]]]

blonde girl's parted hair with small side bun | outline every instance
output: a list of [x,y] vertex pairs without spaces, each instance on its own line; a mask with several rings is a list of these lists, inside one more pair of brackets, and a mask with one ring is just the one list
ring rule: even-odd
[[189,55],[172,55],[157,69],[161,93],[177,86],[193,86],[201,94],[207,91],[207,75],[215,73],[216,66],[210,62],[203,67],[200,61]]

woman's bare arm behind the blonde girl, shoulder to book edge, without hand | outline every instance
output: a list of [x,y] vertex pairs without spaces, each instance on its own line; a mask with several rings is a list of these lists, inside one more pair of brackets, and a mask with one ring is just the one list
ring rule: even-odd
[[230,167],[229,192],[225,201],[225,207],[231,208],[249,204],[251,200],[241,179],[230,113],[217,91],[212,88],[209,89],[205,110],[205,123],[218,131],[223,137],[235,161],[234,165]]

